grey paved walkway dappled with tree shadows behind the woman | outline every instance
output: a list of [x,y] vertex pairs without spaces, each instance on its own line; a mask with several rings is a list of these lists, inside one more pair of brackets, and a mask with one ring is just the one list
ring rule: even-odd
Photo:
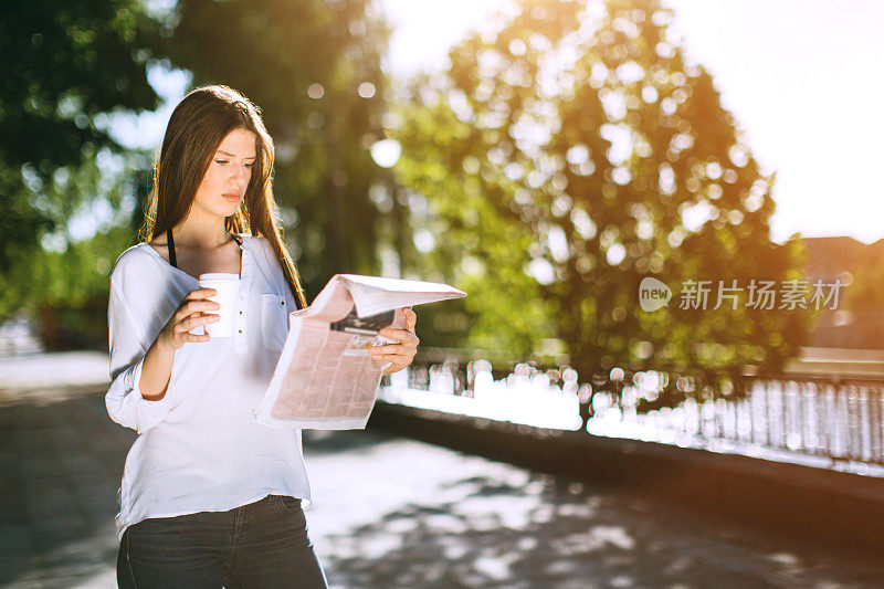
[[[4,388],[8,366],[0,587],[114,587],[134,433],[109,421],[101,388]],[[881,562],[385,433],[305,432],[305,453],[307,519],[333,587],[884,587]]]

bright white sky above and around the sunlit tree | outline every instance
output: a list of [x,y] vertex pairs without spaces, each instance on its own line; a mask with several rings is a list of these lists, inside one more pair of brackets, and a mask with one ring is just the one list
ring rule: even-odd
[[[664,0],[683,48],[712,72],[765,173],[771,236],[884,238],[884,1]],[[381,0],[388,66],[440,63],[507,0]]]

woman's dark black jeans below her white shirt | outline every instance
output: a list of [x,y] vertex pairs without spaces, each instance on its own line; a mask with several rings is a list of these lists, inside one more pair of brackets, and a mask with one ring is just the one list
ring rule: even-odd
[[301,499],[267,495],[229,512],[151,517],[126,528],[126,588],[327,588]]

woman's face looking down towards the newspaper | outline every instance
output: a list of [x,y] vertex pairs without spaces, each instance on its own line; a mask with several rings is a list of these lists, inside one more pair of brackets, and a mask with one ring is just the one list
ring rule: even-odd
[[255,134],[233,129],[218,146],[193,197],[201,213],[230,217],[245,196],[255,164]]

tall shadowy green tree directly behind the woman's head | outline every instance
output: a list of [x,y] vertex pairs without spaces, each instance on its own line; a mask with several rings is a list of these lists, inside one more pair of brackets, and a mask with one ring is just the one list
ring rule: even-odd
[[[377,270],[389,31],[370,0],[180,0],[158,52],[193,85],[227,84],[263,111],[276,143],[274,194],[309,295],[335,273]],[[311,296],[308,296],[311,298]]]

